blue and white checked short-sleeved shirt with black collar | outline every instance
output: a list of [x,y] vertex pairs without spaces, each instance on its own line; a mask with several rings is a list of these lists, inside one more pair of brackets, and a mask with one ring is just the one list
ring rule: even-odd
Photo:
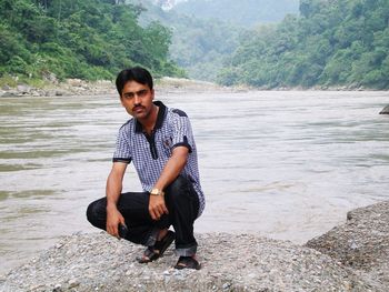
[[150,192],[176,147],[189,149],[187,164],[181,175],[188,178],[199,197],[199,213],[205,209],[206,200],[200,185],[197,149],[188,115],[178,109],[167,108],[156,101],[159,107],[153,133],[147,137],[137,119],[124,123],[118,134],[113,162],[130,163],[138,172],[144,191]]

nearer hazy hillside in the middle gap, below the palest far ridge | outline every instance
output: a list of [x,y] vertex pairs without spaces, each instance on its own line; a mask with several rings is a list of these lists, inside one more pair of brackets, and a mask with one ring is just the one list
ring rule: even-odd
[[[139,0],[132,0],[133,4]],[[164,11],[151,1],[141,1],[140,22],[143,26],[158,20],[172,32],[170,58],[183,68],[190,78],[216,81],[222,60],[231,54],[246,29],[218,19],[198,19],[174,9]]]

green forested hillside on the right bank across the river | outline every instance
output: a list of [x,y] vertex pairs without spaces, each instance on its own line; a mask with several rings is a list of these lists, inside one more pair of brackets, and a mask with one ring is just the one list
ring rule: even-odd
[[301,0],[300,13],[247,33],[219,81],[389,89],[387,0]]

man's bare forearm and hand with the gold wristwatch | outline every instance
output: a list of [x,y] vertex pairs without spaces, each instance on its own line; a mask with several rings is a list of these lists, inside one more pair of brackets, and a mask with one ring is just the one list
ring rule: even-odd
[[[187,147],[177,147],[173,149],[171,158],[166,163],[161,175],[154,184],[154,188],[164,190],[180,174],[188,160],[189,149]],[[153,220],[159,220],[162,214],[169,211],[161,195],[150,195],[149,212]]]

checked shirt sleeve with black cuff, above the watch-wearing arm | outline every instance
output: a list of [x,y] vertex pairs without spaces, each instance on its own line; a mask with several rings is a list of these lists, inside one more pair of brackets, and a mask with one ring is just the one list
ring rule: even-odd
[[194,139],[189,118],[183,111],[180,110],[173,110],[173,113],[172,148],[186,147],[189,149],[190,153],[194,148]]

